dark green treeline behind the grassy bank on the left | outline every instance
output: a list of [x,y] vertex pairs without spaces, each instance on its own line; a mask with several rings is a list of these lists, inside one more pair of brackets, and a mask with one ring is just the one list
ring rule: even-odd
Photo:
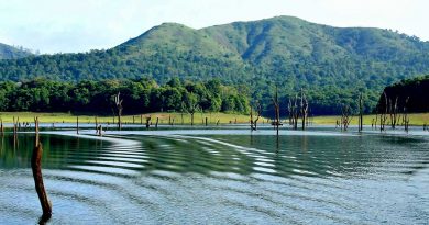
[[123,113],[237,112],[249,113],[249,100],[237,88],[219,80],[182,81],[160,86],[153,79],[64,82],[34,79],[0,82],[0,111],[112,114],[113,95],[120,92]]

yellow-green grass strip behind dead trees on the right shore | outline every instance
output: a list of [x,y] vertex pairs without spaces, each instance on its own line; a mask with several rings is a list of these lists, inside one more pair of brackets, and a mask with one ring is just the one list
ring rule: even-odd
[[[312,117],[312,122],[315,124],[336,124],[337,120],[340,120],[340,115],[329,115],[329,116],[315,116]],[[375,119],[375,115],[364,115],[363,116],[363,123],[364,125],[371,125],[373,119]],[[359,117],[353,116],[351,124],[358,125]],[[380,117],[378,117],[380,123]],[[389,124],[389,116],[387,115],[387,124]],[[417,113],[417,114],[409,114],[409,123],[411,125],[424,125],[429,124],[429,113]]]

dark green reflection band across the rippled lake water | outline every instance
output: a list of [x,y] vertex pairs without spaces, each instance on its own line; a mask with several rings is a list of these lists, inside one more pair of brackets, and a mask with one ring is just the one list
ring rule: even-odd
[[[106,168],[105,172],[116,172],[116,169],[120,169],[241,175],[263,172],[283,177],[369,176],[377,173],[380,164],[393,157],[426,159],[425,156],[419,156],[426,151],[408,153],[413,146],[426,146],[424,140],[396,136],[279,136],[277,142],[277,136],[261,135],[129,135],[128,139],[135,140],[131,142],[131,146],[97,137],[42,137],[45,168],[87,171],[94,167],[98,172],[100,168]],[[19,147],[14,147],[16,142],[20,143]],[[19,134],[16,137],[6,134],[1,137],[0,167],[30,168],[33,143],[32,134]],[[408,154],[404,156],[405,153]],[[405,171],[413,168],[398,169]]]

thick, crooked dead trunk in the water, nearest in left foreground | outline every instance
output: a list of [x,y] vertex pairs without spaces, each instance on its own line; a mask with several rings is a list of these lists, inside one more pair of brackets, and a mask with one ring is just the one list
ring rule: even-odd
[[47,221],[52,216],[52,203],[46,194],[45,187],[43,184],[43,176],[42,176],[42,156],[43,156],[43,148],[42,144],[38,140],[38,119],[35,117],[34,120],[35,124],[35,147],[33,149],[33,156],[31,158],[31,168],[33,171],[33,178],[34,178],[34,184],[35,190],[38,195],[38,200],[41,202],[43,215],[42,220]]

